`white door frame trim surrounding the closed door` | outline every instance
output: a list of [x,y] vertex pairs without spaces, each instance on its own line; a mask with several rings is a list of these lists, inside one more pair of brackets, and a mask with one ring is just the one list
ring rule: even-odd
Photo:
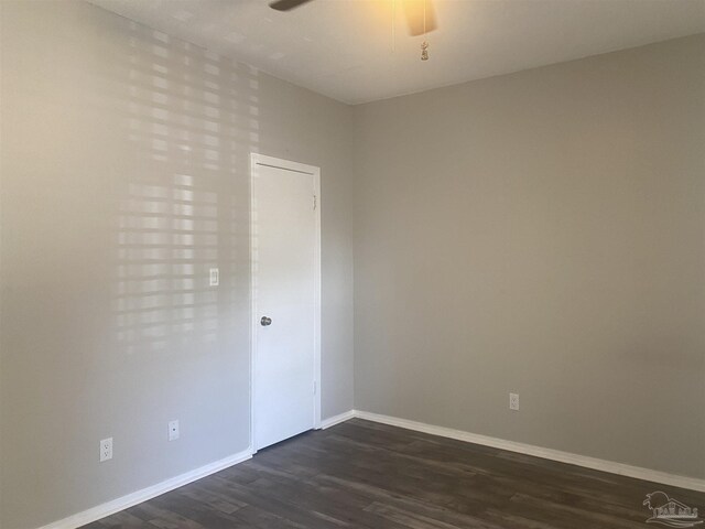
[[294,171],[313,176],[314,196],[312,207],[315,207],[315,242],[314,242],[314,350],[313,350],[313,427],[321,429],[321,168],[305,165],[290,160],[265,156],[256,152],[250,153],[250,452],[254,450],[254,363],[257,361],[257,330],[259,328],[256,290],[256,246],[254,246],[254,185],[253,180],[258,166]]

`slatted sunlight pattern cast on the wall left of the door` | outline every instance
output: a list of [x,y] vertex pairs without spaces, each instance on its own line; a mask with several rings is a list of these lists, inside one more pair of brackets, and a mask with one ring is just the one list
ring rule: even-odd
[[[129,25],[117,74],[133,159],[120,175],[113,311],[123,353],[193,352],[249,305],[249,154],[258,73]],[[220,285],[208,284],[219,268]],[[225,314],[224,314],[225,312]]]

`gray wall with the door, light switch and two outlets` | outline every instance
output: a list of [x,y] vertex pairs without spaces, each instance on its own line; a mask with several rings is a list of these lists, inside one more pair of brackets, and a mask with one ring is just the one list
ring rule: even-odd
[[322,169],[323,414],[349,410],[352,109],[83,2],[0,9],[0,527],[247,449],[250,151]]

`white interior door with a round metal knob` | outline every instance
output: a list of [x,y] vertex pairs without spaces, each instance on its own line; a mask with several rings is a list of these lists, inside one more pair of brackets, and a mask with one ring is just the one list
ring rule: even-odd
[[316,423],[318,174],[302,168],[252,156],[254,450]]

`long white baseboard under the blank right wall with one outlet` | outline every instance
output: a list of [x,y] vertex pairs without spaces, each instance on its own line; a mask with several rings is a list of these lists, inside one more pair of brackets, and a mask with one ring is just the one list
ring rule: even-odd
[[453,430],[451,428],[434,427],[432,424],[425,424],[423,422],[410,421],[406,419],[399,419],[399,418],[389,417],[389,415],[381,415],[379,413],[371,413],[369,411],[354,410],[352,415],[360,419],[366,419],[368,421],[389,424],[391,427],[405,428],[408,430],[415,430],[417,432],[430,433],[432,435],[440,435],[442,438],[449,438],[458,441],[466,441],[468,443],[481,444],[481,445],[491,446],[495,449],[507,450],[509,452],[518,452],[520,454],[533,455],[536,457],[543,457],[545,460],[557,461],[561,463],[568,463],[571,465],[584,466],[586,468],[593,468],[595,471],[603,471],[603,472],[609,472],[611,474],[619,474],[620,476],[636,477],[637,479],[655,482],[664,485],[671,485],[673,487],[681,487],[681,488],[687,488],[691,490],[705,492],[705,479],[698,479],[696,477],[679,476],[676,474],[669,474],[660,471],[651,471],[649,468],[626,465],[623,463],[615,463],[612,461],[598,460],[597,457],[588,457],[586,455],[572,454],[570,452],[562,452],[560,450],[544,449],[541,446],[534,446],[532,444],[517,443],[514,441],[505,441],[503,439],[490,438],[487,435],[479,435],[476,433],[464,432],[462,430]]

